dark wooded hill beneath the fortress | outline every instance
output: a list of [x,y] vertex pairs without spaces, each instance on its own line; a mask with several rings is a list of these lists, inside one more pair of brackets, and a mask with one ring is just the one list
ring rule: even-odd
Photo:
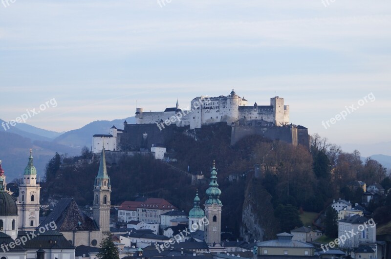
[[[381,182],[383,186],[390,182],[385,169],[377,161],[367,160],[363,163],[358,152],[344,153],[338,146],[316,135],[311,138],[310,150],[300,145],[268,141],[259,136],[242,139],[233,147],[229,143],[230,127],[227,125],[207,126],[199,131],[178,129],[175,138],[165,143],[170,156],[175,156],[178,162],[169,165],[148,156],[134,156],[124,157],[108,168],[112,186],[111,203],[120,204],[138,196],[156,197],[167,199],[188,212],[193,206],[196,189],[201,203],[206,199],[204,194],[208,182],[192,186],[191,177],[184,171],[190,166],[191,173],[202,171],[208,178],[213,160],[216,160],[217,181],[222,191],[222,229],[232,230],[238,235],[245,190],[255,180],[254,165],[260,163],[264,172],[257,182],[261,184],[262,195],[270,195],[272,206],[268,210],[259,208],[255,213],[266,213],[268,216],[261,218],[280,221],[280,224],[270,227],[278,229],[267,230],[268,233],[276,233],[300,225],[300,220],[293,220],[295,226],[287,226],[290,222],[277,215],[283,214],[284,209],[295,208],[298,211],[302,208],[319,212],[332,199],[355,202],[361,197],[361,193],[352,193],[345,187],[349,181],[357,179],[367,184]],[[85,152],[84,157],[88,156]],[[77,159],[80,158],[74,158]],[[42,198],[73,197],[79,205],[91,204],[98,161],[83,167],[63,166],[60,169],[60,164],[69,162],[60,155],[51,159],[46,181],[42,184]],[[238,176],[238,181],[229,181],[230,175]],[[257,202],[260,195],[253,191],[255,189],[251,190],[248,193]],[[275,209],[278,210],[276,215]],[[227,229],[227,226],[233,229]]]

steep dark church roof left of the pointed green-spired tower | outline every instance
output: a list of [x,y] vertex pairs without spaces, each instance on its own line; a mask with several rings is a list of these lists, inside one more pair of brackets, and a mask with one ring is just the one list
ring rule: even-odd
[[52,221],[56,223],[57,231],[61,232],[99,231],[95,220],[87,217],[73,199],[60,199],[40,227]]

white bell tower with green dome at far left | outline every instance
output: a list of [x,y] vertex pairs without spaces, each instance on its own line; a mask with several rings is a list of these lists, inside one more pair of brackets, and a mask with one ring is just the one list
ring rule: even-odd
[[18,227],[20,230],[34,230],[40,223],[40,190],[37,184],[37,169],[33,165],[32,150],[24,169],[23,183],[19,186]]

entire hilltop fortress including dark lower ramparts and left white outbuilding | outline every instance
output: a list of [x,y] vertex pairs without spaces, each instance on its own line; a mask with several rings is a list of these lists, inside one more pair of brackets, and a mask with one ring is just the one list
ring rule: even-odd
[[[124,130],[110,129],[109,135],[94,135],[93,152],[102,149],[102,143],[108,143],[111,151],[151,150],[153,145],[165,145],[174,137],[175,129],[199,130],[202,126],[223,123],[231,127],[231,145],[246,136],[258,135],[267,139],[279,139],[293,145],[308,147],[308,129],[289,124],[289,106],[278,96],[270,98],[270,105],[249,106],[244,97],[232,92],[223,96],[196,97],[190,107],[179,109],[178,100],[175,107],[162,112],[144,112],[136,107],[136,124],[124,122]],[[186,129],[187,128],[187,129]]]

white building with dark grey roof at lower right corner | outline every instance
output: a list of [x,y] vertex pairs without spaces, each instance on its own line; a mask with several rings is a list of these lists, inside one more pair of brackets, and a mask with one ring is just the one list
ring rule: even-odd
[[[351,232],[355,233],[352,235]],[[345,236],[345,243],[339,247],[345,249],[358,248],[359,245],[370,245],[376,251],[376,224],[360,215],[353,215],[338,221],[338,237]]]

